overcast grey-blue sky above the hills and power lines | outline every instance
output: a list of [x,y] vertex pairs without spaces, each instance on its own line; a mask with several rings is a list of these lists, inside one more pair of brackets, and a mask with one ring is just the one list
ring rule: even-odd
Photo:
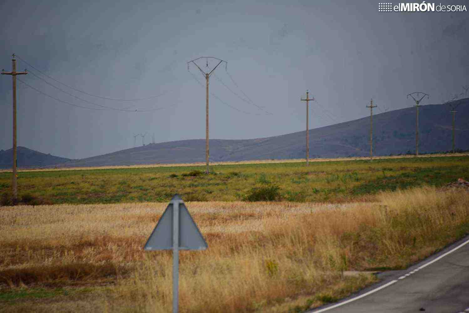
[[[379,113],[413,105],[413,91],[437,104],[469,84],[467,11],[378,12],[378,0],[166,2],[2,0],[0,68],[11,71],[15,53],[17,70],[30,72],[17,77],[49,96],[95,109],[162,108],[89,110],[18,82],[18,145],[83,158],[131,148],[137,133],[148,133],[145,143],[153,133],[155,142],[205,138],[205,87],[193,75],[205,79],[187,67],[201,56],[227,61],[210,79],[224,101],[210,96],[212,139],[303,130],[306,89],[318,100],[310,102],[316,128],[368,116],[371,97]],[[92,97],[23,60],[92,95],[162,95]],[[0,149],[10,149],[12,79],[0,79]]]

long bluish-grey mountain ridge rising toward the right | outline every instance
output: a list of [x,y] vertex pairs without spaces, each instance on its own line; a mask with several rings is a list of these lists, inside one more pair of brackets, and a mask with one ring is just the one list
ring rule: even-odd
[[[469,98],[457,100],[452,104],[454,103],[459,103],[455,119],[456,149],[468,150]],[[452,115],[450,111],[450,104],[420,106],[420,153],[452,149]],[[415,107],[373,114],[374,155],[396,155],[408,151],[414,153],[415,124]],[[309,132],[311,158],[362,157],[370,155],[369,116],[310,129]],[[210,140],[211,162],[296,159],[304,158],[305,153],[305,131],[257,139]],[[57,162],[57,164],[60,167],[205,162],[205,140],[191,139],[161,142],[79,160],[59,159],[61,159],[61,162]],[[63,161],[64,159],[68,161]],[[4,163],[0,164],[3,165]],[[22,166],[19,159],[18,166]],[[7,167],[11,167],[11,163]]]

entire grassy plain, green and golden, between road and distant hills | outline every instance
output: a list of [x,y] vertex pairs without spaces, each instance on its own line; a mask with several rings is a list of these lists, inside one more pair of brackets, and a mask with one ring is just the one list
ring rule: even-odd
[[[19,172],[0,312],[171,312],[171,253],[143,245],[176,193],[209,245],[181,252],[181,312],[303,312],[469,233],[469,193],[440,188],[469,178],[468,156],[203,170]],[[2,204],[10,184],[0,172]]]

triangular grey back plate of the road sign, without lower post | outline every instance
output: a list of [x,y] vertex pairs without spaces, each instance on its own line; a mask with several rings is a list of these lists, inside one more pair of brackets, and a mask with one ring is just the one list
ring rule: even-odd
[[172,250],[173,247],[173,207],[179,207],[179,223],[176,227],[179,233],[178,250],[205,250],[208,246],[204,237],[190,216],[186,205],[179,195],[175,195],[166,207],[165,212],[156,224],[148,238],[144,250]]

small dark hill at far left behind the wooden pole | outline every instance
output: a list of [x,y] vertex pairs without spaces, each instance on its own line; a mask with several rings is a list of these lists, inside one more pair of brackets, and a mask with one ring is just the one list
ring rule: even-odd
[[[16,150],[18,167],[40,167],[62,164],[73,161],[65,157],[51,156],[19,146]],[[11,168],[13,163],[13,149],[0,150],[0,168]]]

